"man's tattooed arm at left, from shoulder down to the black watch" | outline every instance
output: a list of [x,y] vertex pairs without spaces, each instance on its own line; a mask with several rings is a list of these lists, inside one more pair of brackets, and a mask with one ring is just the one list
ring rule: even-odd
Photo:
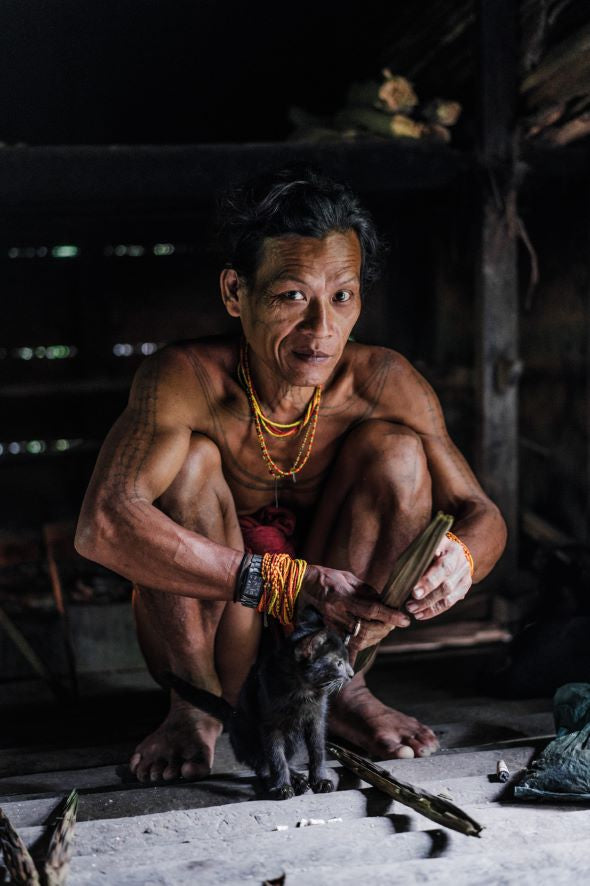
[[75,546],[138,584],[231,600],[242,554],[184,529],[153,505],[187,456],[200,398],[194,372],[177,349],[144,361],[100,451]]

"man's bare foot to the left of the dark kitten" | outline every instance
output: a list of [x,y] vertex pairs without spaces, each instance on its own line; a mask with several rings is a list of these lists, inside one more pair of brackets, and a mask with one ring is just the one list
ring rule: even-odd
[[139,744],[129,761],[138,781],[204,778],[211,772],[222,725],[171,693],[168,716]]

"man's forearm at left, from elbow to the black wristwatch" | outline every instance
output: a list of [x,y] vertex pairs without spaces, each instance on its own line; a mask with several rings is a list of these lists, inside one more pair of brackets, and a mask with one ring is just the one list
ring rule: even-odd
[[207,600],[232,600],[242,553],[190,532],[149,501],[84,505],[78,553],[149,588]]

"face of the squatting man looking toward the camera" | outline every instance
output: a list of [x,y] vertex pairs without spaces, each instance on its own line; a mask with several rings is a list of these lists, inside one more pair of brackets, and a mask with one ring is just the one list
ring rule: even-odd
[[361,310],[360,273],[354,231],[268,237],[255,280],[238,287],[231,307],[225,298],[226,307],[241,318],[256,357],[284,381],[324,384]]

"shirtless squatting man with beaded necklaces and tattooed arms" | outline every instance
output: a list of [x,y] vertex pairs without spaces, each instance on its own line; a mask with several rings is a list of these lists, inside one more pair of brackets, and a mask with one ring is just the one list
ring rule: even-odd
[[[245,539],[255,553],[305,558],[298,605],[353,634],[355,652],[461,600],[469,552],[479,581],[505,527],[427,382],[400,354],[349,340],[379,257],[356,197],[284,171],[236,189],[225,213],[221,295],[242,335],[170,345],[142,364],[99,455],[76,547],[135,583],[155,679],[173,671],[232,703],[261,632],[259,613],[234,602]],[[460,541],[444,540],[407,611],[389,609],[378,594],[437,508],[455,515]],[[220,729],[171,693],[131,769],[140,781],[203,776]],[[382,758],[437,747],[362,674],[333,705],[331,730]]]

